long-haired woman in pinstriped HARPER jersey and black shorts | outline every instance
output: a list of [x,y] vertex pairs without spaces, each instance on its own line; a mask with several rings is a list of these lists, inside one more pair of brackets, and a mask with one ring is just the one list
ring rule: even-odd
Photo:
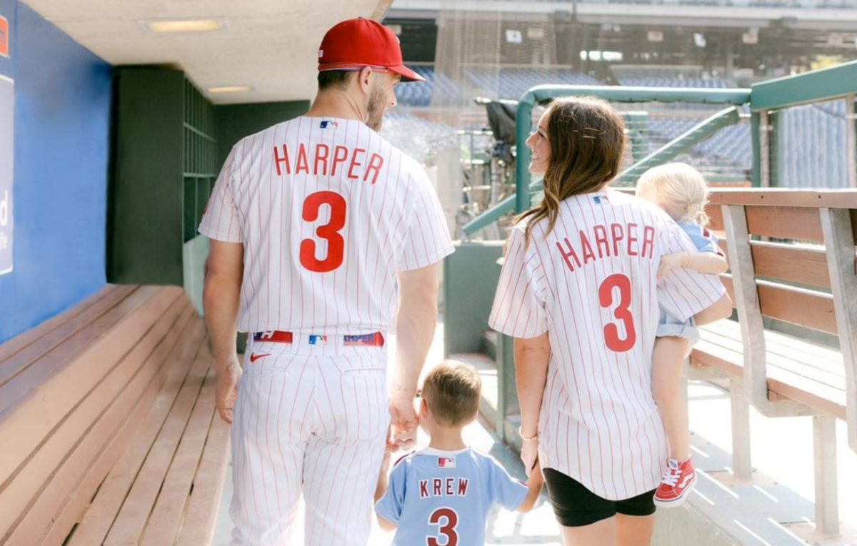
[[521,456],[541,462],[566,546],[649,544],[654,490],[667,458],[651,395],[658,303],[676,317],[728,315],[715,276],[674,270],[692,252],[655,206],[606,188],[625,126],[596,98],[554,100],[527,139],[544,199],[509,236],[492,328],[515,338]]

